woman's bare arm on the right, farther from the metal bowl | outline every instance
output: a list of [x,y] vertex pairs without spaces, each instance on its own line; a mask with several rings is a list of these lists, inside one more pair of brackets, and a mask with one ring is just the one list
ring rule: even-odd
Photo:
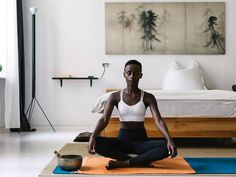
[[177,149],[175,147],[174,141],[172,140],[172,138],[170,136],[170,133],[168,131],[166,123],[162,119],[161,114],[158,110],[156,99],[152,94],[147,93],[147,101],[148,101],[148,105],[150,106],[150,110],[151,110],[152,116],[155,120],[156,126],[161,131],[161,133],[164,135],[164,137],[166,138],[169,154],[173,158],[177,155]]

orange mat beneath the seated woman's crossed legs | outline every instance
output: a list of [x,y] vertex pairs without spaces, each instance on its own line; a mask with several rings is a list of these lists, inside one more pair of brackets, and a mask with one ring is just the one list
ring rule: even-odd
[[103,157],[86,157],[82,168],[77,171],[80,174],[96,174],[96,175],[132,175],[132,174],[193,174],[195,171],[189,164],[181,157],[174,159],[163,159],[153,162],[154,167],[130,167],[130,168],[116,168],[107,170],[105,168],[109,158]]

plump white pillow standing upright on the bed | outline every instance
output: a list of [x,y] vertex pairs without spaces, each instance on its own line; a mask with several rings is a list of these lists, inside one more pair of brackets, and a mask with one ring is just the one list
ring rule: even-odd
[[204,90],[204,79],[196,61],[182,68],[176,61],[171,62],[170,69],[162,82],[163,90]]

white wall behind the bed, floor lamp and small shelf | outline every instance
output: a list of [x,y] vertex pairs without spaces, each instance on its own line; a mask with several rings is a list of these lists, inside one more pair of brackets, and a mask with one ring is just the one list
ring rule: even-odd
[[[208,0],[209,1],[209,0]],[[160,88],[171,60],[188,63],[197,60],[210,89],[230,90],[236,83],[236,1],[226,0],[226,55],[105,55],[104,0],[24,0],[26,47],[26,103],[31,97],[31,14],[38,8],[37,33],[37,99],[53,125],[94,125],[98,115],[91,113],[96,98],[107,88],[125,86],[122,71],[129,59],[143,64],[142,89]],[[101,63],[110,67],[104,79],[94,81],[59,81],[53,76],[99,76]],[[48,125],[36,106],[32,123]]]

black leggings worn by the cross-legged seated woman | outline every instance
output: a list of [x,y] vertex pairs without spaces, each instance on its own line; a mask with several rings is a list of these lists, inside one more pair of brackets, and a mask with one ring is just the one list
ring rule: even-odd
[[[166,141],[148,139],[145,129],[120,129],[117,138],[98,136],[95,151],[112,159],[129,160],[132,166],[149,166],[153,161],[168,157]],[[131,153],[137,156],[129,156]]]

